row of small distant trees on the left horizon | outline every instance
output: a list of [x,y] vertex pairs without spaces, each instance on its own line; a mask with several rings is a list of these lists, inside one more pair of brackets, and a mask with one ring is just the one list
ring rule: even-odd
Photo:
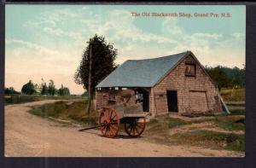
[[[38,96],[69,96],[70,91],[67,87],[61,84],[60,89],[55,88],[55,83],[52,79],[49,80],[49,84],[44,82],[42,78],[41,84],[33,84],[32,80],[24,84],[21,88],[21,93],[24,95],[38,95]],[[16,91],[13,87],[4,89],[5,95],[19,95],[20,92]]]

